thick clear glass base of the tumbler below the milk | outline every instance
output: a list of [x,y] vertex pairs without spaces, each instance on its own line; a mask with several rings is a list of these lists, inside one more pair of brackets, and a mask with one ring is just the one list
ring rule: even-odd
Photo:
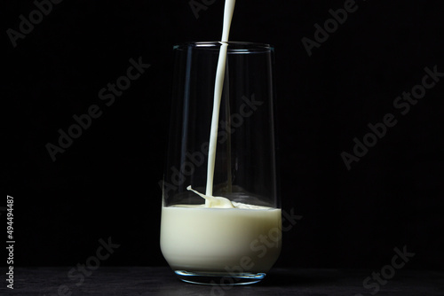
[[210,285],[255,284],[260,282],[265,273],[218,273],[210,271],[174,270],[178,278],[186,283]]

